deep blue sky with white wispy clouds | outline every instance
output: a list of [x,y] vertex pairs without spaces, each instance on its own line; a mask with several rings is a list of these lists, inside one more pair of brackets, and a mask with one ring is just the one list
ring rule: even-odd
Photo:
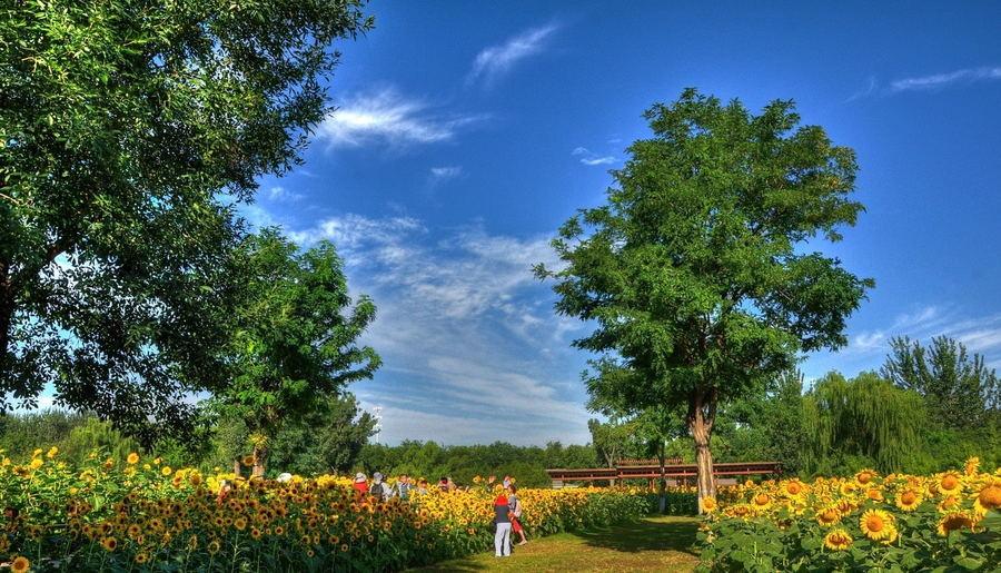
[[876,288],[846,347],[804,357],[807,379],[878,368],[896,335],[948,334],[1001,369],[1001,3],[370,8],[375,29],[337,46],[338,109],[305,164],[244,213],[333,240],[374,297],[384,366],[350,391],[378,408],[378,442],[589,442],[585,325],[531,266],[603,201],[643,110],[686,87],[755,111],[793,99],[858,152],[866,213],[816,248]]

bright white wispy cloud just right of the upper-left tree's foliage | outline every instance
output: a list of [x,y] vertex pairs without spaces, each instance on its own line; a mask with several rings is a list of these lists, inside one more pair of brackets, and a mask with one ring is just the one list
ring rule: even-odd
[[316,137],[331,147],[405,147],[452,140],[462,128],[484,119],[485,115],[435,113],[424,101],[384,89],[343,101],[319,125]]

